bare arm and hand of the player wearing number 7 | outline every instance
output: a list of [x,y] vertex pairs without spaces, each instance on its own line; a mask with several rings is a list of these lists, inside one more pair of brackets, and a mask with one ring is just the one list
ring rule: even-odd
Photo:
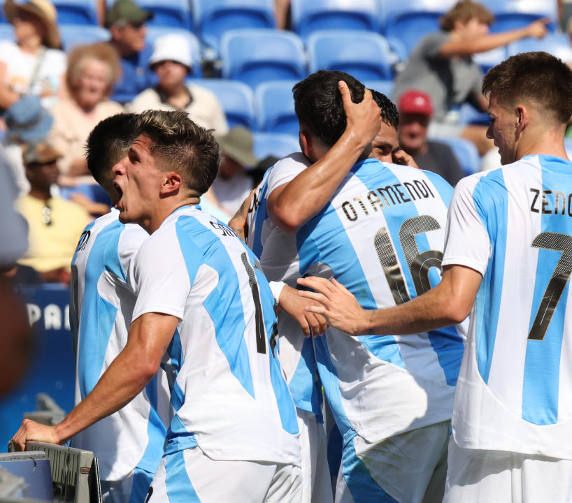
[[321,314],[338,330],[350,335],[400,335],[427,332],[461,323],[469,316],[482,276],[462,265],[443,268],[443,279],[434,289],[409,302],[387,309],[366,310],[340,283],[332,279],[307,277],[298,283],[315,292],[298,295],[320,302],[308,305],[308,311]]

